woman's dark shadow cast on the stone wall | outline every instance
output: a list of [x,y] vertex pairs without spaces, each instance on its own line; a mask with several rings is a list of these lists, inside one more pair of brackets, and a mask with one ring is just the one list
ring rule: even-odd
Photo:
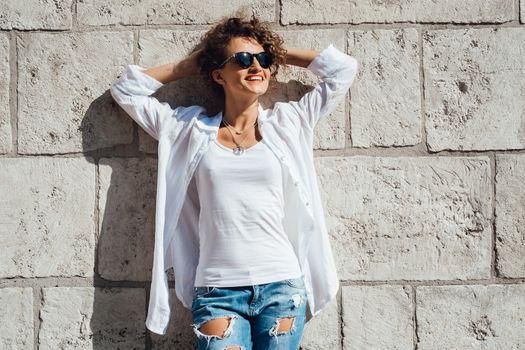
[[[275,102],[298,100],[312,88],[297,81],[277,83],[261,104],[271,108]],[[201,78],[166,84],[152,96],[172,108],[202,105],[208,115],[222,108],[222,101]],[[167,334],[151,333],[144,325],[153,263],[157,141],[137,125],[130,128],[135,124],[132,121],[107,90],[90,104],[81,122],[83,150],[98,164],[99,230],[94,271],[97,288],[89,296],[93,299],[92,315],[85,315],[90,323],[82,323],[80,337],[96,350],[194,348],[191,312],[176,298],[172,270],[172,315]],[[129,139],[129,143],[97,146],[112,144],[107,140],[114,138]]]

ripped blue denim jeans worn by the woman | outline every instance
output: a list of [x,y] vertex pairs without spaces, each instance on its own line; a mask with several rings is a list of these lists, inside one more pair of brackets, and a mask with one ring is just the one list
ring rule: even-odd
[[[299,348],[307,306],[303,277],[253,286],[194,289],[192,328],[199,350]],[[217,318],[228,321],[222,335],[201,331],[206,322]]]

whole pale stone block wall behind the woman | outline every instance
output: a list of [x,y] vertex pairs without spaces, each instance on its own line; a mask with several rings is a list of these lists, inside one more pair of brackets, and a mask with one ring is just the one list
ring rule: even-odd
[[[525,349],[525,0],[2,0],[0,349],[193,348],[173,289],[168,334],[144,325],[156,141],[108,89],[240,7],[360,66],[316,129],[341,290],[301,348]],[[318,82],[278,79],[267,107]]]

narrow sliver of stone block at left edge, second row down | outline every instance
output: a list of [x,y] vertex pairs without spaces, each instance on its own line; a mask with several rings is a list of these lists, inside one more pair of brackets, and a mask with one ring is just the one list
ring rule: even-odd
[[0,154],[11,152],[11,113],[9,110],[9,38],[0,35]]

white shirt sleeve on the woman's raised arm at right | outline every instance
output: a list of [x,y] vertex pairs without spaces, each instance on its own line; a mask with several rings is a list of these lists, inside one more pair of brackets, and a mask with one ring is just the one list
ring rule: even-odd
[[333,45],[315,57],[307,67],[322,82],[292,106],[313,129],[319,120],[329,115],[344,100],[357,74],[357,60]]

